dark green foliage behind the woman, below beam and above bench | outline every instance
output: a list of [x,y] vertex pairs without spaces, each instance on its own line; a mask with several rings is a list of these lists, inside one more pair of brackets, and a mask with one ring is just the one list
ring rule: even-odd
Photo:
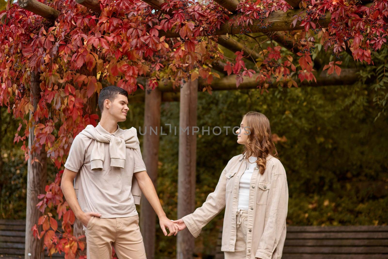
[[[272,133],[285,136],[277,149],[286,168],[289,186],[288,224],[352,225],[388,223],[388,150],[386,117],[374,121],[380,108],[364,85],[199,93],[197,125],[196,207],[217,185],[227,161],[241,152],[231,133],[248,111],[264,113]],[[132,104],[128,125],[143,127],[143,106]],[[172,133],[168,132],[171,124]],[[167,215],[176,218],[179,103],[164,103],[160,137],[158,194]],[[214,135],[212,128],[222,128]],[[230,126],[228,135],[223,128]],[[142,128],[144,132],[144,128]],[[216,133],[218,132],[215,131]],[[376,186],[383,185],[381,188]],[[196,252],[214,254],[223,212],[204,227]],[[175,241],[157,230],[158,258],[175,254]]]

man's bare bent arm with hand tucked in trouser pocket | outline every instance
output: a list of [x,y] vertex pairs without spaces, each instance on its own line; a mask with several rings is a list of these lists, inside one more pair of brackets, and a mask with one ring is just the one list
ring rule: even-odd
[[101,214],[96,212],[82,211],[80,204],[78,203],[77,197],[75,195],[74,186],[73,186],[73,181],[76,175],[77,175],[77,172],[74,172],[65,168],[65,171],[63,172],[62,180],[61,180],[61,190],[71,210],[74,212],[74,215],[76,216],[76,218],[79,219],[81,223],[86,227],[92,216],[100,217]]

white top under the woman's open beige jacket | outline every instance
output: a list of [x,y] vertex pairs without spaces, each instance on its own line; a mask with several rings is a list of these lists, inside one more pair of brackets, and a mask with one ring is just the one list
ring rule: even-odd
[[247,210],[249,202],[249,186],[251,185],[251,177],[253,169],[257,166],[255,163],[257,157],[249,157],[248,167],[242,173],[239,186],[239,205],[238,209]]

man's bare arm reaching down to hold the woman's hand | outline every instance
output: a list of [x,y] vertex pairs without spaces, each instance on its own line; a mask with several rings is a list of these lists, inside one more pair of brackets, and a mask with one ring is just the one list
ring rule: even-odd
[[156,212],[156,215],[158,215],[160,228],[165,236],[167,235],[166,228],[170,230],[170,233],[168,234],[169,237],[171,235],[177,235],[178,227],[166,217],[166,213],[163,211],[162,205],[160,204],[158,194],[156,194],[154,184],[152,183],[151,178],[149,178],[147,172],[141,171],[135,173],[135,177],[139,183],[140,190],[142,190],[145,198],[148,200],[149,204],[151,204],[152,208]]

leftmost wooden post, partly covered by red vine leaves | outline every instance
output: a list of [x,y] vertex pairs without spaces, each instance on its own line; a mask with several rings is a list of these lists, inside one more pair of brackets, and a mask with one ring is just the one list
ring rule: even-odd
[[[40,86],[39,76],[34,72],[31,72],[31,102],[34,106],[34,110],[38,106],[40,99]],[[33,114],[30,112],[29,116]],[[35,142],[34,129],[36,121],[33,123],[32,128],[29,129],[28,136],[28,148],[31,150]],[[34,161],[38,159],[39,162]],[[45,152],[45,146],[41,147],[41,150],[30,154],[27,165],[27,211],[26,211],[26,240],[25,240],[25,259],[41,259],[44,257],[43,240],[35,240],[32,235],[31,228],[34,224],[38,224],[38,219],[42,216],[42,213],[36,208],[38,204],[38,194],[45,192],[45,185],[47,181],[47,154]],[[40,229],[42,230],[42,229]]]

